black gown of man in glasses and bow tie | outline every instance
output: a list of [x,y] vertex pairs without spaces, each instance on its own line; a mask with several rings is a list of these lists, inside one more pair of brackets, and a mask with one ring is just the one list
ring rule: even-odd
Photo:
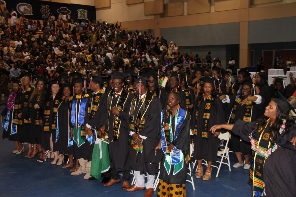
[[[124,90],[126,93],[128,93],[127,90]],[[106,130],[109,127],[108,136],[110,143],[108,144],[109,149],[109,158],[110,158],[110,168],[115,169],[118,172],[129,170],[130,169],[130,163],[128,158],[129,153],[129,147],[128,147],[128,133],[129,133],[129,118],[128,113],[131,106],[131,101],[133,100],[134,95],[132,93],[128,94],[128,97],[126,98],[126,102],[123,106],[123,111],[119,112],[118,118],[121,121],[120,123],[120,136],[118,140],[114,140],[112,142],[113,138],[113,114],[110,112],[109,122],[108,122],[108,95],[110,91],[107,93],[104,93],[104,95],[101,97],[99,101],[99,108],[94,117],[88,122],[88,124],[93,128],[101,128],[103,125],[105,125]],[[114,93],[114,90],[111,90],[111,93]],[[115,95],[113,94],[113,101],[111,106],[116,106],[116,103],[118,101],[118,97],[115,98]],[[116,118],[116,117],[115,117]]]

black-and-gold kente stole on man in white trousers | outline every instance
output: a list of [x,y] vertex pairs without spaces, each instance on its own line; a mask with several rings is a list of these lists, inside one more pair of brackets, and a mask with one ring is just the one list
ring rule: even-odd
[[[131,109],[129,112],[130,122],[130,129],[135,133],[140,133],[141,130],[144,128],[145,125],[145,113],[149,107],[150,102],[154,98],[154,95],[146,91],[145,96],[139,101],[139,95],[134,97],[131,103]],[[137,114],[134,114],[137,106],[140,105],[139,111]]]

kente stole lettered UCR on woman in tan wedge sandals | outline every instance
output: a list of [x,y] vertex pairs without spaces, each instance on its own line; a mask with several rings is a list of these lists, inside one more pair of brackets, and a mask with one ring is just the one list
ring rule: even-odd
[[[205,96],[205,93],[202,94],[202,98],[205,98],[204,96]],[[207,97],[207,99],[205,99],[205,101],[203,101],[203,102],[206,102],[205,110],[204,110],[204,114],[203,114],[203,125],[204,126],[202,127],[202,128],[204,128],[204,130],[201,131],[203,138],[207,138],[207,133],[209,132],[208,121],[209,121],[210,115],[211,115],[210,112],[211,112],[212,101],[213,101],[213,97],[211,94]],[[198,117],[198,111],[199,111],[200,104],[201,104],[201,101],[198,101],[197,110],[195,112],[196,125],[193,130],[194,135],[197,135],[197,117]]]

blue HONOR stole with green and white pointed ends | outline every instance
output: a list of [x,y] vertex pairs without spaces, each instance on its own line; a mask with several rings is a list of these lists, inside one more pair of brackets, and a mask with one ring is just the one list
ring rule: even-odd
[[71,123],[74,125],[73,141],[77,143],[78,147],[84,144],[86,138],[86,130],[84,128],[84,117],[86,114],[86,103],[89,95],[76,95],[72,102]]

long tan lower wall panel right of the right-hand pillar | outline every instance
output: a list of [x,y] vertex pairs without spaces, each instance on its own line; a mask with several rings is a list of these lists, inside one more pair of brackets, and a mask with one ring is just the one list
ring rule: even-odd
[[279,4],[249,9],[249,20],[264,20],[296,16],[296,3]]

